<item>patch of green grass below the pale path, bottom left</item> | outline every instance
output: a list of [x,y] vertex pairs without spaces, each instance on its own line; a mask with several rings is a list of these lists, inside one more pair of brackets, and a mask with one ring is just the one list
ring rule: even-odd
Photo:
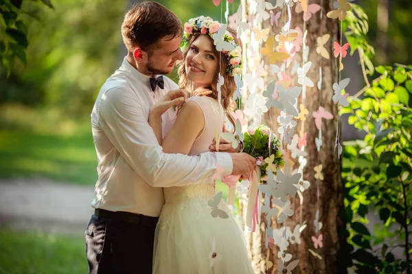
[[0,229],[0,274],[87,271],[84,238]]

